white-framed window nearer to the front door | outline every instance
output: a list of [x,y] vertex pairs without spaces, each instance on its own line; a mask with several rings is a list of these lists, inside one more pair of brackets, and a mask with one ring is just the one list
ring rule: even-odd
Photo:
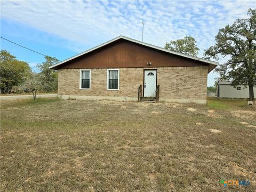
[[119,69],[107,69],[107,90],[119,90]]

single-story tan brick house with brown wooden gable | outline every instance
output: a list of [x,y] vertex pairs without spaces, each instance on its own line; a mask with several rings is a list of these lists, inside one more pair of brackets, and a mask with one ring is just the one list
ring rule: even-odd
[[50,67],[63,99],[206,103],[207,74],[217,62],[124,36]]

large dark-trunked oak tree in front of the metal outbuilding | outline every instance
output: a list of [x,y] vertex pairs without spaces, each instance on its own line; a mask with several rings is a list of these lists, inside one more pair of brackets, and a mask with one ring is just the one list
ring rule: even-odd
[[237,19],[215,36],[216,44],[205,50],[206,59],[229,56],[226,63],[215,71],[220,79],[231,81],[231,85],[249,86],[250,100],[254,100],[253,86],[256,85],[256,9],[249,9],[249,18]]

